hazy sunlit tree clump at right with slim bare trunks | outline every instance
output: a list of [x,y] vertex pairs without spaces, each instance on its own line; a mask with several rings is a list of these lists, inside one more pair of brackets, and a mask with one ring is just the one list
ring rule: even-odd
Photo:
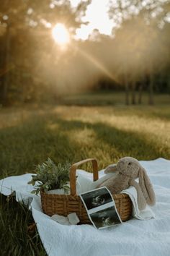
[[[114,30],[113,32],[116,33],[116,37],[121,37],[120,33],[122,32],[122,40],[123,38],[125,40],[124,46],[122,47],[122,51],[124,51],[124,61],[128,61],[128,69],[130,69],[130,62],[132,64],[130,72],[133,74],[133,81],[131,82],[133,85],[132,103],[135,103],[135,80],[138,80],[138,77],[141,77],[142,73],[143,76],[145,76],[142,64],[145,64],[145,56],[150,56],[149,61],[146,61],[146,72],[150,77],[148,103],[153,104],[154,73],[158,69],[158,59],[164,59],[165,57],[163,53],[165,50],[164,43],[162,43],[160,38],[162,29],[160,25],[164,25],[165,17],[168,12],[168,1],[110,1],[109,14],[114,23],[117,24],[115,28],[116,31]],[[142,41],[143,44],[141,43]],[[166,54],[168,54],[167,48]],[[138,67],[138,70],[141,70],[140,74],[138,74],[138,72],[136,74],[136,67]],[[124,77],[127,77],[126,73],[128,71],[124,69],[124,72]],[[128,84],[127,79],[125,79],[126,103],[128,103]],[[140,84],[139,88],[139,102],[141,102],[142,84]]]

